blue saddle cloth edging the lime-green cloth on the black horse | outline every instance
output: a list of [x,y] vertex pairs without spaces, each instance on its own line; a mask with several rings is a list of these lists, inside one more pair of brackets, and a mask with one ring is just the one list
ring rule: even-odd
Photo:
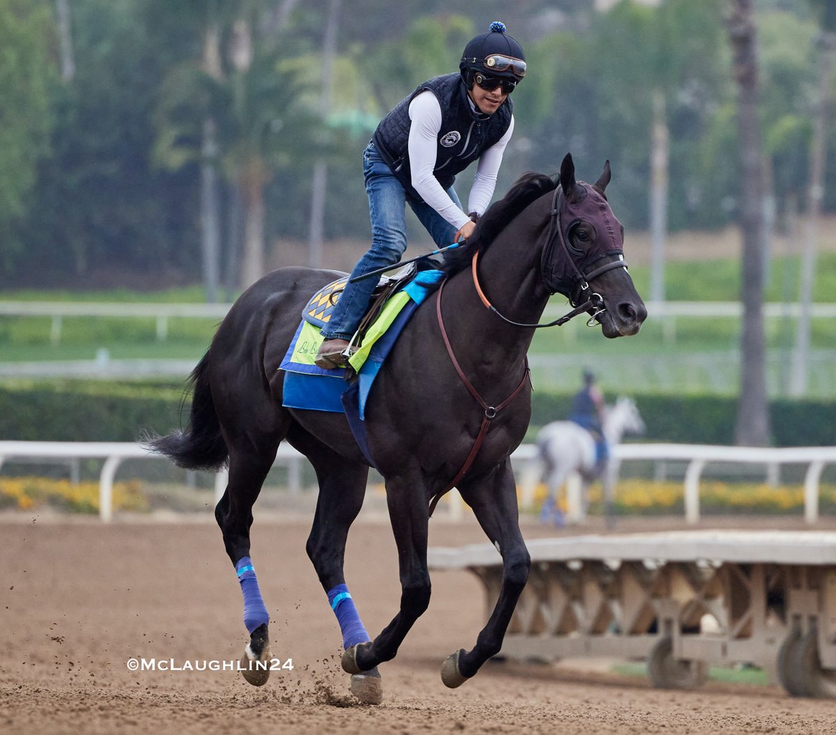
[[[284,355],[279,370],[284,370],[283,398],[282,405],[288,408],[301,408],[309,411],[330,411],[333,413],[344,413],[349,420],[349,425],[354,431],[354,436],[363,449],[366,458],[371,462],[368,444],[365,438],[363,421],[365,418],[365,405],[369,399],[372,385],[380,373],[380,368],[389,355],[400,332],[409,322],[412,314],[418,305],[426,299],[430,289],[438,283],[444,274],[441,271],[421,271],[410,283],[403,288],[409,299],[400,313],[395,317],[389,329],[377,339],[375,345],[357,373],[356,380],[351,382],[345,380],[345,373],[342,370],[324,370],[317,365],[307,362],[300,362],[300,352],[314,351],[314,346],[306,348],[299,345],[299,339],[306,334],[305,325],[308,324],[312,314],[303,314],[296,334]],[[326,287],[323,292],[330,293]],[[319,314],[317,314],[319,316]],[[294,360],[294,355],[296,359]]]

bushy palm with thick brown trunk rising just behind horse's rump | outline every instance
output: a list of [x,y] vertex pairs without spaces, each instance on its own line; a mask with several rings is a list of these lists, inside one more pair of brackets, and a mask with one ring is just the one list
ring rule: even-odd
[[300,94],[299,75],[277,49],[253,43],[250,18],[242,14],[233,23],[227,73],[212,74],[205,63],[181,65],[166,79],[155,113],[158,161],[173,169],[206,162],[206,142],[212,140],[214,151],[208,152],[241,197],[242,288],[264,273],[265,186],[278,169],[325,152],[314,140],[320,119]]

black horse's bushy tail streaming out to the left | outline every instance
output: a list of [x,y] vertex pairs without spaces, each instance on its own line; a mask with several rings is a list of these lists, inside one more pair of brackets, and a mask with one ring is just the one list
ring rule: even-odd
[[141,442],[150,452],[164,454],[178,467],[189,470],[217,471],[229,456],[209,389],[208,356],[203,356],[189,376],[192,399],[186,431],[177,429],[166,436],[148,434]]

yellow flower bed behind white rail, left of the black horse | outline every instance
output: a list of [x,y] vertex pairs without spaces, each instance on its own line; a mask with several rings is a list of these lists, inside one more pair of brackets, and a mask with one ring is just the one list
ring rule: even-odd
[[[71,513],[99,513],[99,483],[51,480],[44,477],[0,478],[0,508],[57,508]],[[147,511],[148,498],[137,481],[116,482],[113,507]]]

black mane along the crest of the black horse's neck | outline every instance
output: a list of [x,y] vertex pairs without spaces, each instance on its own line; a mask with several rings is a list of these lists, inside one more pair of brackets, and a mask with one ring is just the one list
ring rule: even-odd
[[444,255],[441,269],[449,278],[470,265],[473,253],[485,250],[507,227],[509,222],[529,204],[558,186],[551,176],[529,171],[520,176],[499,202],[494,202],[479,218],[476,229],[462,248],[454,248]]

